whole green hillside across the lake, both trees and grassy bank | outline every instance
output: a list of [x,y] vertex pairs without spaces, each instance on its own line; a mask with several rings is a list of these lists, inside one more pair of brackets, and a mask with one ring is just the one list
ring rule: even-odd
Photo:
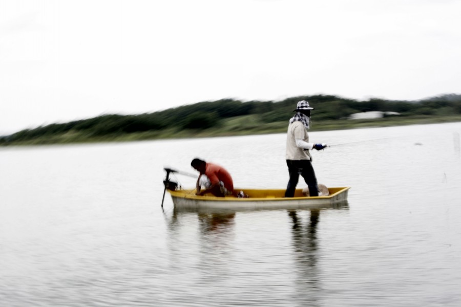
[[[0,145],[136,141],[166,138],[285,133],[297,101],[315,107],[311,131],[461,121],[461,95],[422,101],[356,101],[329,95],[301,96],[280,102],[223,99],[140,115],[101,115],[50,124],[0,137]],[[349,120],[354,113],[397,112],[381,119]]]

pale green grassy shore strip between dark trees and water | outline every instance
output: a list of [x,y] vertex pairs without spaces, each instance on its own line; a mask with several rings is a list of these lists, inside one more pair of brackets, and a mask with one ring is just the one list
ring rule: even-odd
[[[406,126],[419,124],[437,124],[461,122],[461,115],[453,116],[418,116],[418,117],[388,117],[380,119],[367,120],[323,120],[316,121],[310,132],[327,131],[327,130],[345,130],[358,128],[373,127],[391,127]],[[264,125],[249,127],[231,128],[221,126],[216,128],[193,130],[193,129],[164,129],[161,131],[145,131],[141,133],[108,135],[103,137],[89,137],[81,133],[68,132],[51,137],[39,137],[27,141],[15,141],[9,143],[0,143],[2,147],[9,146],[33,146],[33,145],[56,145],[56,144],[85,144],[85,143],[110,143],[110,142],[133,142],[146,140],[165,140],[165,139],[184,139],[184,138],[209,138],[209,137],[232,137],[247,135],[265,135],[286,133],[287,121],[274,122]]]

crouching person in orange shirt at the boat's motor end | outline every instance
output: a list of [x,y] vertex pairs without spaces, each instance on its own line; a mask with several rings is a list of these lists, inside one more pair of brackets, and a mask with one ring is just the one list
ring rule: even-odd
[[[224,197],[234,194],[234,182],[231,174],[224,167],[197,158],[192,160],[191,166],[200,172],[196,195],[212,193],[215,196]],[[201,183],[205,186],[203,190]]]

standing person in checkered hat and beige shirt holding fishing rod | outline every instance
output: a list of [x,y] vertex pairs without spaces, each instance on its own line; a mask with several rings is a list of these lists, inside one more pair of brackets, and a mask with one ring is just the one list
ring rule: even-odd
[[295,196],[300,174],[309,187],[310,196],[319,195],[316,173],[312,167],[309,150],[313,148],[321,150],[326,147],[326,144],[309,143],[307,129],[310,128],[310,110],[313,110],[313,107],[309,106],[309,102],[305,100],[298,102],[294,111],[296,114],[290,119],[288,125],[285,158],[290,179],[286,187],[285,197]]

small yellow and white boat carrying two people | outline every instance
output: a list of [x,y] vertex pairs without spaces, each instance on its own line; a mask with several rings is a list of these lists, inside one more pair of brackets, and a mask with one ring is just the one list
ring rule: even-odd
[[285,190],[236,189],[243,190],[248,198],[212,195],[197,196],[195,190],[169,191],[177,209],[264,209],[264,208],[325,208],[347,203],[349,187],[329,188],[328,196],[303,196],[297,189],[294,198],[284,198]]

